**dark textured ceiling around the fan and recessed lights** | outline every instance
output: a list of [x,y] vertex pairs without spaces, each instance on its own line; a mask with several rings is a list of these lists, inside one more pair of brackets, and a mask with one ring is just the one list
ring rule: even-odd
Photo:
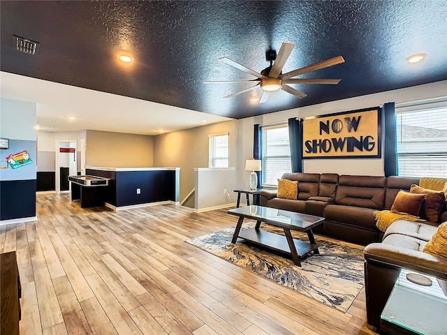
[[[419,1],[1,1],[1,70],[242,118],[447,79],[447,3]],[[12,35],[41,43],[17,52]],[[258,72],[265,51],[295,44],[283,72],[342,55],[346,62],[300,77],[341,78],[337,85],[292,86],[266,103],[255,79],[219,61]],[[135,57],[122,66],[115,57]],[[427,53],[419,64],[406,57]]]

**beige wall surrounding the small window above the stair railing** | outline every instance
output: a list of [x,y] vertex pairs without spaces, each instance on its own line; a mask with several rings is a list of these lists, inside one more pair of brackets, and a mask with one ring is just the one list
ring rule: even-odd
[[[180,168],[180,201],[194,188],[193,168],[208,167],[208,135],[229,133],[230,167],[236,162],[235,121],[210,124],[157,135],[154,138],[154,167]],[[233,191],[233,190],[231,190]]]

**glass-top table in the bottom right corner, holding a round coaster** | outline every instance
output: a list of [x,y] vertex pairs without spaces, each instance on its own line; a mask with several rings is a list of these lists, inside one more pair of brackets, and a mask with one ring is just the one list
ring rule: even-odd
[[[447,296],[440,279],[423,274],[432,285],[412,283],[402,269],[381,314],[381,329],[390,334],[447,334]],[[444,284],[447,290],[447,282]]]

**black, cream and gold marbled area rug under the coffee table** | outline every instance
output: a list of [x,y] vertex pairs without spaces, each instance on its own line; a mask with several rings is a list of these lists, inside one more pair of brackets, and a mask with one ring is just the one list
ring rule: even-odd
[[[246,223],[242,229],[251,227],[254,223]],[[283,232],[281,228],[264,223],[261,230]],[[301,260],[302,267],[298,267],[287,255],[270,253],[244,243],[243,239],[232,244],[234,231],[234,227],[227,228],[186,242],[344,313],[363,288],[361,246],[353,248],[316,236],[320,254],[307,256]],[[305,233],[292,232],[292,235],[295,239],[309,241]]]

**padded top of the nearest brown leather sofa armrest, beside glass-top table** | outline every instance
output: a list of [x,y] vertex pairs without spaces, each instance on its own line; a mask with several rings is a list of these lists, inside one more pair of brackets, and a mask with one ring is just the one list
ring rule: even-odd
[[402,246],[372,243],[363,251],[366,262],[400,267],[447,279],[447,260]]

